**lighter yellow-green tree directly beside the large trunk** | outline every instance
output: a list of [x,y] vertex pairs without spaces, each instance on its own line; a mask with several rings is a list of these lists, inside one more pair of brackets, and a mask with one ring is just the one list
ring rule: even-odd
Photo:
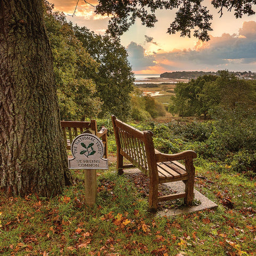
[[45,1],[44,21],[53,53],[61,119],[96,117],[101,108],[92,75],[98,63],[86,52],[65,15]]

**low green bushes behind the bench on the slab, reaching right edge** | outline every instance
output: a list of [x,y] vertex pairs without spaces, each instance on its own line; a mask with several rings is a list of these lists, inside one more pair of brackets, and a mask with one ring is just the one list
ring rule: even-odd
[[207,122],[167,124],[154,122],[136,125],[154,133],[154,145],[163,153],[194,150],[196,165],[210,170],[256,175],[256,118],[254,111],[226,111],[219,119]]

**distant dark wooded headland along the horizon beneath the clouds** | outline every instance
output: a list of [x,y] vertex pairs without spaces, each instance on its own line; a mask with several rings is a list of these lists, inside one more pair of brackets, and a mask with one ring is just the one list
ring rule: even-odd
[[[241,76],[241,77],[250,77],[253,79],[256,79],[256,73],[252,73],[252,71],[244,71],[244,72],[240,72],[240,71],[236,71],[236,72],[232,72],[229,71],[230,74],[233,74],[235,76]],[[197,78],[199,76],[204,76],[204,75],[216,75],[218,76],[218,71],[217,72],[204,72],[204,71],[174,71],[174,72],[165,72],[163,74],[160,75],[160,77],[163,78],[174,78],[174,79],[193,79],[193,78]]]

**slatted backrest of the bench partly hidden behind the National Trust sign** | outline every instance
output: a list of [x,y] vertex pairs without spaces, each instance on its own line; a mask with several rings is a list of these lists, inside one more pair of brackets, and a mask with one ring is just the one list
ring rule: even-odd
[[91,122],[61,121],[60,123],[67,149],[70,149],[71,143],[77,135],[83,132],[91,132],[98,136],[97,123],[94,119]]

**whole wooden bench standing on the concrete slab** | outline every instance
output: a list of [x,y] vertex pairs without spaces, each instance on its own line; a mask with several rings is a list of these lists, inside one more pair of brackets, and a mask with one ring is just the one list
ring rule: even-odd
[[[139,131],[112,116],[116,145],[117,170],[123,174],[123,169],[137,167],[149,177],[149,209],[156,210],[158,202],[176,198],[184,198],[185,204],[191,205],[194,197],[195,167],[192,150],[178,154],[163,154],[154,148],[153,133]],[[131,164],[124,165],[123,157]],[[184,160],[185,166],[177,162]],[[184,193],[158,197],[158,184],[182,180],[185,183]]]

